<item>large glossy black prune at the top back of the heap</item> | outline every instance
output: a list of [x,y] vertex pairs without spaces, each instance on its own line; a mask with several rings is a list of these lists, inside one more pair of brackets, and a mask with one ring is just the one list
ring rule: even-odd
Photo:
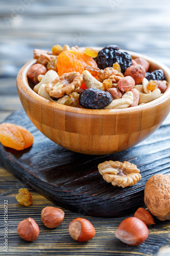
[[105,69],[112,67],[113,63],[118,62],[122,73],[124,73],[132,65],[132,57],[129,53],[118,50],[119,48],[117,46],[107,46],[99,51],[98,57],[95,59],[98,68]]

